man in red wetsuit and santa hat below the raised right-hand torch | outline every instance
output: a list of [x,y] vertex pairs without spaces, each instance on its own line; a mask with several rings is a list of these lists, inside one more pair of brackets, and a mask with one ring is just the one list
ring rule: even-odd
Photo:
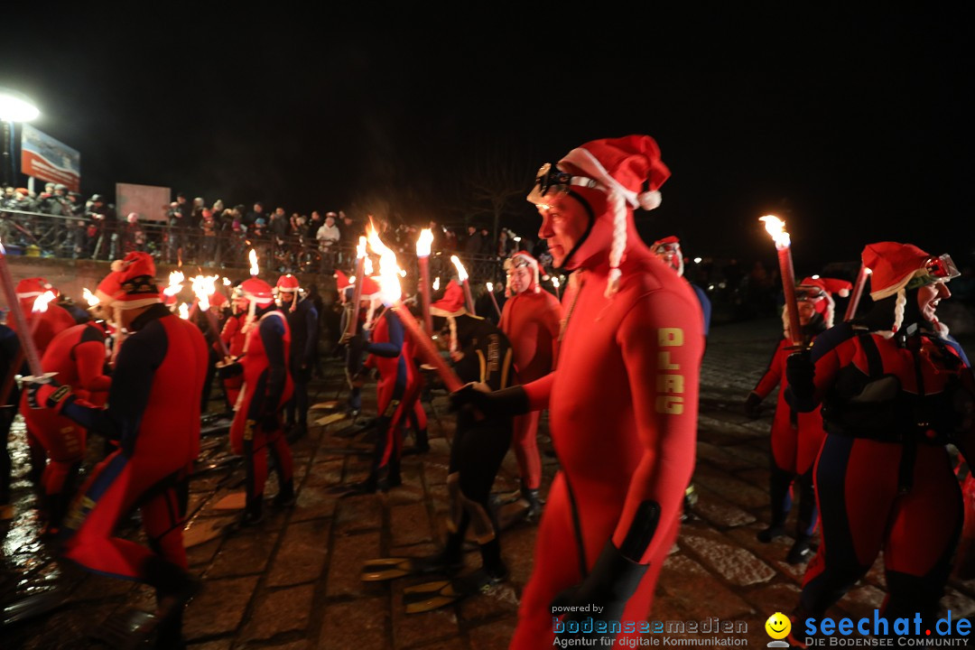
[[[850,284],[832,278],[806,278],[796,288],[799,307],[802,343],[812,345],[816,336],[833,326],[836,305],[832,293],[849,295]],[[793,483],[800,490],[799,519],[796,522],[796,541],[786,561],[799,564],[809,552],[809,541],[816,529],[816,492],[812,484],[812,464],[819,454],[819,447],[826,438],[823,416],[819,408],[808,413],[795,411],[786,402],[786,359],[795,352],[789,338],[789,310],[782,310],[783,338],[779,341],[755,390],[745,401],[745,413],[752,418],[760,415],[761,401],[779,386],[775,405],[775,417],[771,431],[771,474],[769,495],[772,505],[771,525],[759,532],[759,541],[765,544],[786,534],[785,522],[792,510]]]

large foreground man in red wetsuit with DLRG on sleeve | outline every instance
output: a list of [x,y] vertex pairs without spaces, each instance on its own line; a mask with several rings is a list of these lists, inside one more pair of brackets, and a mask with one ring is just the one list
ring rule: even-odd
[[[549,409],[562,471],[513,648],[549,647],[590,616],[597,635],[633,637],[677,537],[694,465],[703,318],[633,218],[659,204],[669,174],[646,135],[589,142],[539,171],[528,197],[542,214],[538,235],[554,264],[574,272],[559,365],[525,386],[468,386],[454,397],[485,412]],[[577,610],[586,605],[600,610]]]

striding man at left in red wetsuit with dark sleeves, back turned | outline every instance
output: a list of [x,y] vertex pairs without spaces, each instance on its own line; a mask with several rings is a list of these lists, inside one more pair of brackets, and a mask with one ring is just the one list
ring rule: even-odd
[[[89,432],[119,440],[65,516],[63,555],[83,567],[156,589],[159,643],[176,646],[182,606],[196,591],[182,543],[187,470],[200,448],[200,393],[207,344],[200,330],[160,304],[155,265],[145,252],[114,262],[98,286],[130,332],[116,357],[107,409],[57,383],[29,386],[32,408],[46,407]],[[149,548],[115,537],[138,507]]]

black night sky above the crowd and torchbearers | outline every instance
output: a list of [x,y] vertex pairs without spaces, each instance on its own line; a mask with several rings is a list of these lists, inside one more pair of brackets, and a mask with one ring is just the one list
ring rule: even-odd
[[[776,211],[800,273],[884,239],[970,256],[971,17],[732,4],[24,18],[0,43],[0,85],[81,152],[89,194],[121,181],[289,212],[385,201],[458,223],[463,179],[497,143],[527,191],[584,141],[645,133],[673,176],[642,230],[689,254],[771,258],[757,219]],[[514,207],[509,225],[537,228]]]

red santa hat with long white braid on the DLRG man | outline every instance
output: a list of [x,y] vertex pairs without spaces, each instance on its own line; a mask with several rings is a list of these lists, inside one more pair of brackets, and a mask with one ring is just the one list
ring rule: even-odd
[[[528,195],[528,201],[544,203],[549,182],[564,187],[579,185],[604,192],[606,213],[613,222],[609,280],[605,290],[606,296],[611,296],[619,289],[619,265],[626,250],[626,229],[631,218],[628,215],[638,207],[653,210],[660,205],[660,186],[670,176],[670,170],[660,160],[660,148],[649,135],[627,135],[587,142],[569,151],[557,167],[555,172],[549,166],[539,171],[535,189]],[[569,172],[576,171],[583,175],[569,175]],[[539,184],[542,191],[539,191]],[[597,218],[601,216],[597,215]]]

